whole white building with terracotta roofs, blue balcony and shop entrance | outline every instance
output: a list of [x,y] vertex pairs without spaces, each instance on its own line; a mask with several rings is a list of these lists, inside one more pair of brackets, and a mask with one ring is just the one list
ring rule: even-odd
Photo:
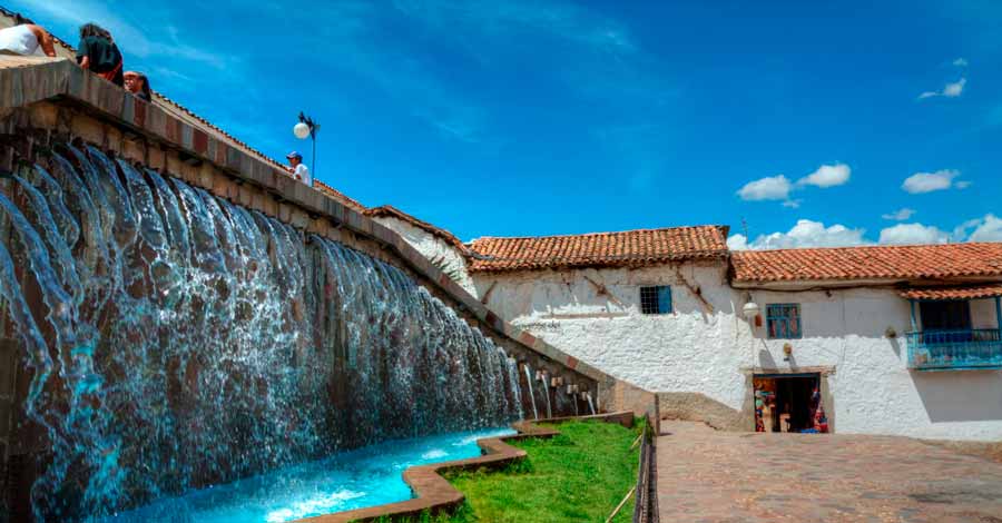
[[753,430],[772,397],[797,430],[816,388],[833,432],[1002,438],[1002,244],[730,253],[701,226],[459,249],[396,213],[381,221],[498,315],[662,414]]

